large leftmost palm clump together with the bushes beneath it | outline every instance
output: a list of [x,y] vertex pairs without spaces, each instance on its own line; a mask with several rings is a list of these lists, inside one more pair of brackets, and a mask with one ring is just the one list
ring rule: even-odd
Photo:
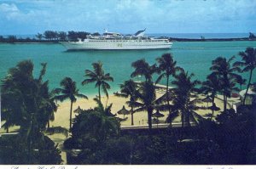
[[20,127],[19,134],[13,136],[11,142],[1,140],[1,159],[5,159],[3,164],[61,164],[61,152],[54,142],[44,136],[56,105],[51,99],[49,82],[43,81],[46,64],[42,66],[38,78],[35,78],[32,61],[21,61],[9,69],[8,75],[3,79],[3,127],[7,132],[11,126]]

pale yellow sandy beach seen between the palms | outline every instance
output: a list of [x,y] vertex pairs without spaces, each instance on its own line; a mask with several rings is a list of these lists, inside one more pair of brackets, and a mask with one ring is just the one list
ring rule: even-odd
[[[157,97],[160,97],[162,95],[162,93],[156,93]],[[203,96],[201,96],[201,98],[204,98]],[[223,101],[222,101],[222,95],[218,95],[218,97],[215,99],[215,104],[221,109],[223,110]],[[131,108],[125,103],[128,99],[125,98],[119,98],[117,96],[114,95],[109,95],[108,99],[107,97],[102,97],[102,104],[104,106],[106,106],[106,104],[113,104],[112,105],[112,113],[113,115],[117,115],[119,118],[124,118],[124,115],[118,115],[117,111],[121,110],[123,105],[125,105],[125,108],[127,110],[131,110]],[[108,101],[108,103],[107,103]],[[230,98],[229,99],[229,104],[228,104],[228,108],[230,108],[230,106],[232,106],[232,104],[235,104],[239,102],[239,98]],[[70,112],[70,101],[69,100],[65,100],[63,102],[57,102],[58,104],[58,110],[55,112],[55,120],[54,121],[50,121],[49,125],[50,127],[65,127],[68,128],[69,127],[69,112]],[[199,105],[203,105],[205,107],[207,107],[207,103],[202,103]],[[211,106],[211,103],[208,103],[208,106]],[[93,100],[93,98],[89,98],[89,99],[77,99],[77,101],[73,104],[73,110],[76,110],[78,107],[80,106],[81,109],[86,110],[86,109],[90,109],[90,108],[94,108],[96,106],[96,102]],[[216,111],[214,113],[214,115],[218,115],[219,112],[221,111]],[[198,114],[204,116],[208,113],[211,113],[211,110],[197,110],[196,111]],[[167,111],[161,112],[162,114],[164,114],[164,117],[160,117],[159,121],[160,123],[163,123],[166,121],[166,117],[168,115]],[[75,117],[75,115],[77,115],[77,113],[73,112],[73,118]],[[121,121],[121,126],[130,126],[131,125],[131,115],[125,115],[125,117],[127,117],[126,121]],[[134,125],[145,125],[147,124],[148,121],[148,115],[146,111],[143,112],[137,112],[134,114]],[[180,122],[180,118],[177,118],[174,122]],[[14,132],[15,130],[17,130],[18,127],[11,127],[9,129],[9,132]],[[3,130],[3,128],[1,128],[0,133],[6,132]]]

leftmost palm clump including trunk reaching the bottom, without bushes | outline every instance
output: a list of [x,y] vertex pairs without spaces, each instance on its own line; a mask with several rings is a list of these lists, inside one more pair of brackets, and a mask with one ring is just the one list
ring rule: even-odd
[[[38,78],[33,76],[33,69],[31,60],[21,61],[9,70],[1,86],[3,127],[9,132],[9,127],[20,126],[20,143],[26,144],[29,164],[33,149],[47,144],[43,131],[57,110],[54,91],[49,91],[49,82],[43,81],[46,64],[42,64]],[[35,140],[40,138],[39,144]]]

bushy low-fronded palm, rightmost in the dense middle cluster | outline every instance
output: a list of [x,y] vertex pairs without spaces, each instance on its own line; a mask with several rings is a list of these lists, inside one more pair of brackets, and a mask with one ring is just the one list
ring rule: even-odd
[[[201,100],[197,99],[196,93],[200,92],[196,86],[201,82],[198,80],[193,81],[194,74],[190,74],[181,70],[181,72],[175,76],[176,80],[172,82],[175,86],[173,88],[175,97],[172,100],[173,110],[178,111],[181,115],[182,127],[190,126],[190,120],[197,122],[196,119],[201,119],[201,115],[198,115],[195,110],[199,107],[196,106]],[[192,99],[195,98],[195,99]]]

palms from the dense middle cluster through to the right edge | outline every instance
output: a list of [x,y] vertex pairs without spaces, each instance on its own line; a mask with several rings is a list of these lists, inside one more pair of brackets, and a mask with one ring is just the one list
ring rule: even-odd
[[[211,74],[207,76],[206,82],[193,80],[194,74],[190,74],[177,66],[177,62],[173,60],[172,54],[163,54],[157,58],[157,64],[149,65],[144,59],[139,59],[131,64],[134,71],[131,77],[143,76],[144,82],[134,82],[132,79],[125,81],[120,85],[120,93],[115,93],[119,97],[130,98],[127,104],[131,107],[131,125],[134,125],[133,115],[135,112],[148,112],[148,128],[152,129],[152,114],[154,110],[168,110],[169,115],[166,119],[172,125],[172,121],[178,116],[181,116],[182,126],[190,126],[190,121],[195,122],[201,119],[195,110],[203,109],[196,104],[201,103],[198,98],[199,93],[207,94],[212,100],[212,117],[214,110],[218,107],[214,103],[218,93],[223,94],[224,111],[227,110],[228,98],[234,91],[239,91],[236,87],[237,83],[245,84],[246,80],[239,73],[250,72],[250,77],[247,83],[247,91],[251,85],[253,70],[256,66],[256,49],[247,48],[245,52],[239,53],[241,61],[236,61],[232,64],[235,57],[226,59],[218,57],[212,60]],[[153,82],[153,75],[158,74],[156,82]],[[155,89],[156,83],[166,77],[166,93],[160,98],[156,98]],[[173,87],[170,88],[170,78]],[[201,87],[199,87],[201,85]],[[247,97],[247,91],[243,99]],[[171,104],[172,102],[172,104]],[[212,119],[211,117],[211,119]]]

